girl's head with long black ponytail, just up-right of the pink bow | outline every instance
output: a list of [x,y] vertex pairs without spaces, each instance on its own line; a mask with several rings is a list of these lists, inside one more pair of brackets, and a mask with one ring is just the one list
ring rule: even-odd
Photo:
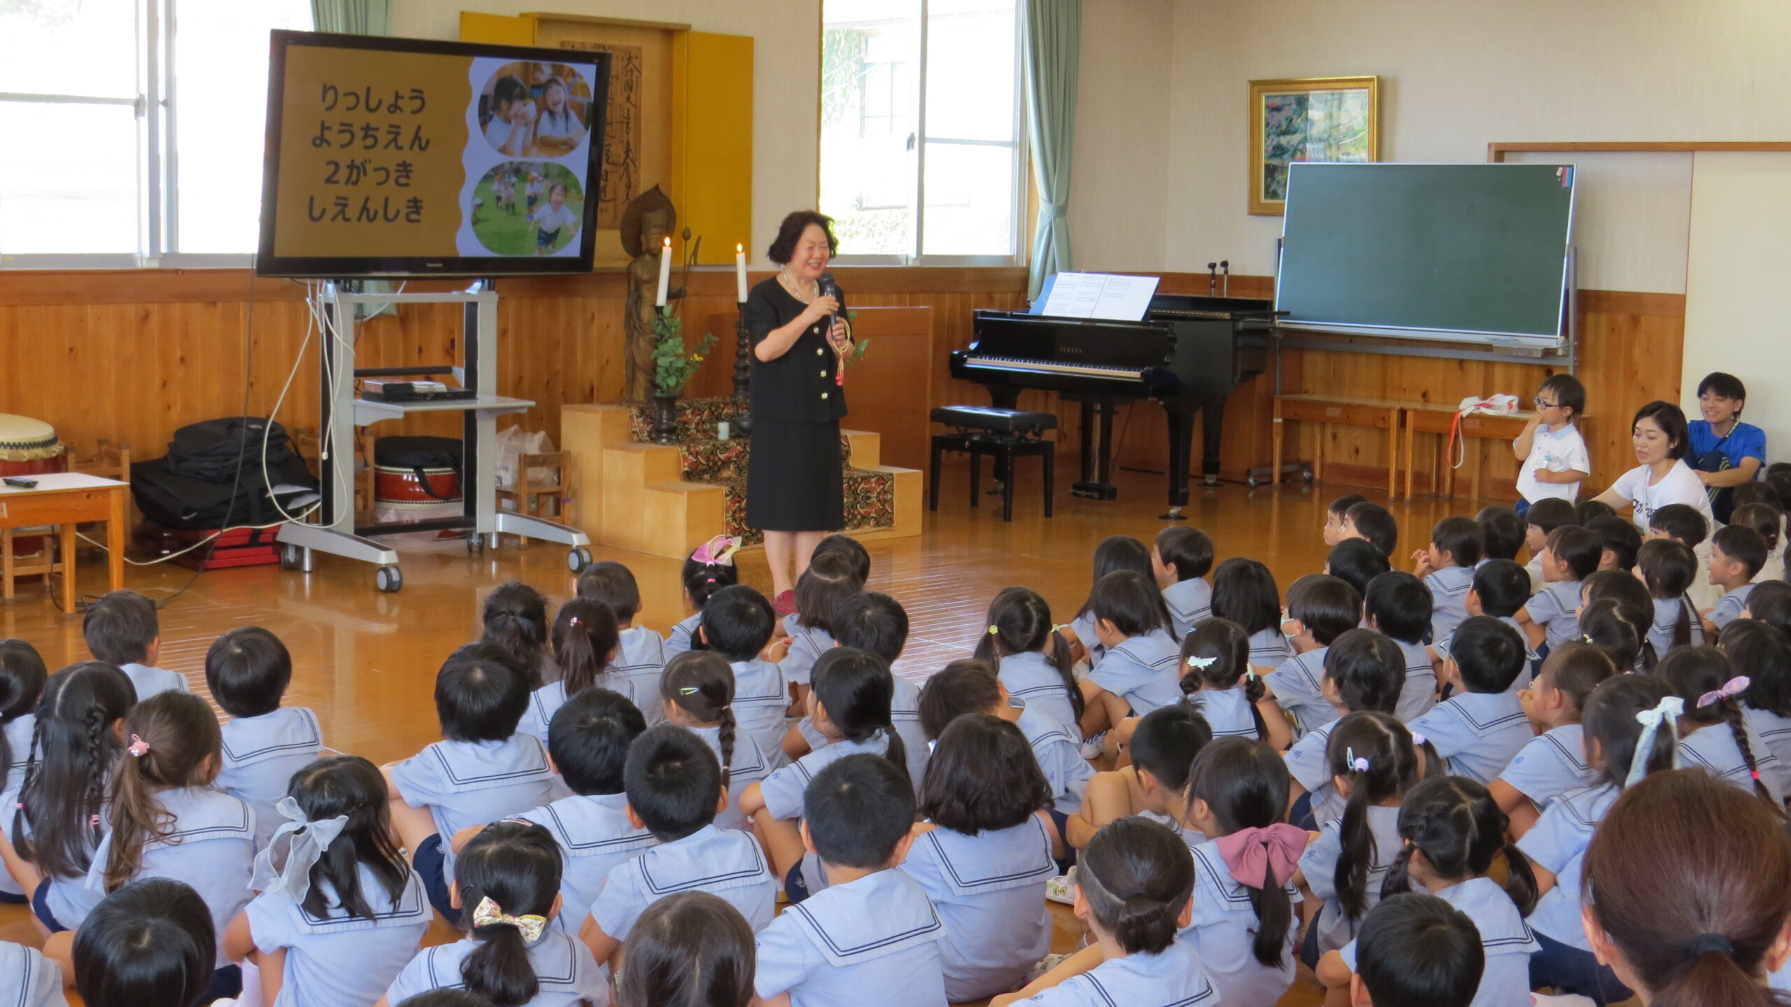
[[1368,912],[1368,871],[1381,858],[1368,808],[1399,797],[1418,781],[1418,756],[1411,733],[1386,713],[1349,713],[1331,729],[1325,744],[1331,776],[1349,779],[1349,801],[1338,826],[1333,883],[1343,916],[1354,923]]

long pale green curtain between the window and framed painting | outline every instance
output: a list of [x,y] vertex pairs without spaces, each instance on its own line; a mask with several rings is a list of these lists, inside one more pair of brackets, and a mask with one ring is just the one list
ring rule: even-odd
[[[313,0],[317,2],[317,0]],[[1069,265],[1069,154],[1076,138],[1082,0],[1024,0],[1026,125],[1039,220],[1026,296]]]

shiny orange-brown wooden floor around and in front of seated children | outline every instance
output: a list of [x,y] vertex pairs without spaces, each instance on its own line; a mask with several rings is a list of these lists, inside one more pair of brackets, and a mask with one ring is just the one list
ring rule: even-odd
[[[1012,523],[1001,521],[999,498],[983,498],[969,509],[964,468],[946,473],[937,514],[928,514],[919,538],[872,543],[872,590],[887,591],[908,609],[908,650],[896,670],[924,681],[946,661],[969,656],[989,598],[1005,586],[1024,584],[1051,604],[1062,622],[1089,590],[1094,545],[1112,534],[1146,543],[1164,521],[1161,475],[1118,473],[1119,500],[1089,502],[1058,491],[1057,512],[1046,520],[1039,500],[1037,469],[1023,462]],[[987,484],[985,484],[987,486]],[[1247,489],[1223,486],[1196,489],[1187,507],[1191,523],[1204,529],[1218,557],[1248,555],[1273,570],[1286,590],[1295,577],[1324,570],[1320,538],[1325,504],[1343,493],[1384,496],[1358,487]],[[1472,514],[1469,500],[1418,500],[1393,504],[1401,525],[1401,554],[1429,541],[1429,529],[1447,514]],[[287,702],[317,711],[330,747],[387,762],[414,754],[439,740],[432,688],[442,659],[478,634],[478,611],[485,595],[505,581],[521,579],[555,604],[573,591],[562,548],[536,543],[518,550],[507,539],[496,552],[469,557],[460,541],[398,541],[405,588],[396,595],[374,590],[373,566],[321,555],[312,575],[253,566],[201,573],[183,595],[161,611],[159,665],[183,672],[193,692],[204,695],[204,654],[222,631],[263,625],[292,650],[294,679]],[[638,622],[661,633],[684,618],[677,573],[679,561],[623,550],[593,548],[598,559],[627,563],[641,582],[643,613]],[[1395,564],[1401,566],[1401,564]],[[82,564],[81,588],[104,590],[104,564]],[[763,552],[741,557],[743,581],[770,590]],[[152,598],[181,590],[192,572],[176,564],[131,566],[129,588]],[[79,615],[64,616],[47,593],[32,584],[20,600],[0,607],[0,636],[29,640],[50,668],[86,659]],[[1058,919],[1055,950],[1076,944],[1076,921],[1053,907]],[[437,926],[441,939],[450,934]],[[0,939],[38,942],[25,914],[0,907]],[[1284,998],[1288,1005],[1316,1003],[1304,987],[1309,973]]]

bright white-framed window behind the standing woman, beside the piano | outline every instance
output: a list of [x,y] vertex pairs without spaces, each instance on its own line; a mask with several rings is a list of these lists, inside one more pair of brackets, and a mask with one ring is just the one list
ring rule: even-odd
[[822,0],[820,47],[820,211],[840,254],[1015,262],[1015,2]]

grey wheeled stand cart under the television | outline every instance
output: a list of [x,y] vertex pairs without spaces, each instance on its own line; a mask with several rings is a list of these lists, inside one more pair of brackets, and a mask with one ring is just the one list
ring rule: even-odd
[[[319,315],[324,323],[319,382],[322,434],[328,437],[328,455],[319,464],[322,500],[315,523],[288,521],[279,527],[279,561],[287,570],[310,573],[315,554],[328,552],[360,559],[378,566],[374,584],[381,591],[405,586],[398,568],[398,550],[365,536],[392,532],[460,530],[467,532],[471,554],[498,548],[498,534],[528,536],[557,541],[568,547],[566,566],[578,573],[591,563],[591,539],[578,529],[543,521],[527,514],[498,509],[498,417],[525,412],[534,401],[496,394],[498,385],[498,292],[485,281],[458,292],[444,294],[358,294],[337,281],[324,283],[319,294]],[[356,305],[464,305],[464,331],[460,339],[462,362],[448,367],[355,367],[355,306]],[[473,389],[469,400],[442,401],[369,401],[355,396],[355,378],[392,374],[453,374],[460,387]],[[460,493],[464,511],[455,518],[399,521],[383,525],[355,525],[355,426],[371,426],[385,419],[401,419],[412,412],[460,412],[462,460]]]

